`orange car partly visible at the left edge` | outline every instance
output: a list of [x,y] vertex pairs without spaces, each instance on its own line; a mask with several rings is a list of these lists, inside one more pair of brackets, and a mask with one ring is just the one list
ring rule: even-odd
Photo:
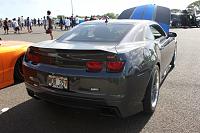
[[22,59],[30,42],[0,40],[0,89],[23,81]]

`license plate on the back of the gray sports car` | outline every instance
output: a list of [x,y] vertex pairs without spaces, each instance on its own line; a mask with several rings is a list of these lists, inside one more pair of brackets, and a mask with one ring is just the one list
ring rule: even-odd
[[68,78],[49,75],[47,78],[48,86],[58,89],[68,89]]

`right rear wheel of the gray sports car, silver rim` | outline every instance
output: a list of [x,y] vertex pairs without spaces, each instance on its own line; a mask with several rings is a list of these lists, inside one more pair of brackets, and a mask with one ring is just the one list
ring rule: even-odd
[[153,114],[156,109],[160,90],[160,71],[156,65],[154,67],[151,79],[146,89],[146,94],[143,101],[143,111],[145,114]]

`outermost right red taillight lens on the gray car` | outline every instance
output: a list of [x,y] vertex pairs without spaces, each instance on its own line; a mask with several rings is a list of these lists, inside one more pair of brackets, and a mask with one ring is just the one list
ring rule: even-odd
[[121,72],[124,69],[125,62],[114,61],[107,62],[106,67],[108,72]]

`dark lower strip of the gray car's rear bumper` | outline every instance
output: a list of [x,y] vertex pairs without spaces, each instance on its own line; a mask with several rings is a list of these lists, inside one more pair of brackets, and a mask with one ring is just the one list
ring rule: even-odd
[[91,97],[86,98],[80,96],[72,96],[71,94],[61,95],[47,91],[44,88],[36,88],[27,83],[25,85],[30,96],[67,107],[107,111],[106,113],[112,113],[113,115],[117,115],[123,118],[136,114],[143,109],[141,103],[134,103],[133,105],[130,103],[127,104],[127,101],[111,101],[104,98]]

